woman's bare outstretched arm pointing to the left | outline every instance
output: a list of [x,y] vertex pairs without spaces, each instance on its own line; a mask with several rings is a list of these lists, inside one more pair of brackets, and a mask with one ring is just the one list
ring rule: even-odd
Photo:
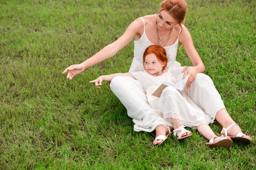
[[140,18],[137,18],[128,26],[125,33],[122,34],[122,36],[119,37],[119,39],[117,39],[115,42],[105,46],[101,51],[93,55],[93,57],[90,57],[81,64],[70,65],[65,69],[65,71],[63,71],[62,74],[65,74],[68,71],[67,79],[72,79],[76,74],[83,72],[90,66],[113,57],[118,51],[125,47],[125,45],[127,45],[142,28],[143,21]]

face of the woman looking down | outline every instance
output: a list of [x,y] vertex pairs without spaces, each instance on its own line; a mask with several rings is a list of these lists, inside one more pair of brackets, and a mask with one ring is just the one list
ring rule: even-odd
[[162,10],[157,14],[158,30],[169,30],[175,24],[177,24],[177,21],[172,17],[172,15],[168,11]]

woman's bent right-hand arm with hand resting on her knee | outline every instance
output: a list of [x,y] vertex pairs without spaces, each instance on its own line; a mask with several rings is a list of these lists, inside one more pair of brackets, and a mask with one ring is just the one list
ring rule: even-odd
[[184,67],[183,69],[183,78],[189,74],[189,79],[186,83],[187,88],[189,88],[192,81],[195,80],[196,74],[204,72],[204,63],[201,60],[200,56],[198,55],[198,52],[195,50],[192,37],[185,26],[182,27],[182,32],[180,34],[180,42],[182,42],[185,51],[193,64],[193,67]]

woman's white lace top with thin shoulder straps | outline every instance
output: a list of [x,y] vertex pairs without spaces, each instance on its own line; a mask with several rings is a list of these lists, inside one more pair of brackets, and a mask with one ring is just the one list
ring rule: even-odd
[[[144,53],[145,49],[148,48],[148,46],[154,45],[150,40],[148,40],[148,37],[146,35],[145,21],[144,21],[143,17],[140,17],[140,18],[143,20],[144,31],[143,31],[143,34],[140,37],[140,39],[137,41],[134,41],[134,59],[131,63],[129,72],[143,70],[143,53]],[[181,29],[180,29],[180,31],[181,31]],[[167,64],[168,67],[180,66],[180,63],[178,63],[178,62],[175,63],[175,59],[177,56],[177,48],[178,48],[178,43],[179,43],[179,36],[180,36],[180,32],[179,32],[177,40],[175,41],[175,43],[173,45],[163,47],[166,50],[167,57],[169,57],[169,61]]]

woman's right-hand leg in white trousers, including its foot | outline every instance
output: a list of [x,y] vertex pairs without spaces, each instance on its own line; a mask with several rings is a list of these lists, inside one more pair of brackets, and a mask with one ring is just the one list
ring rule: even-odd
[[[201,107],[206,114],[215,118],[222,127],[227,128],[234,123],[209,76],[202,73],[197,74],[190,88],[185,88],[184,91],[193,102]],[[233,125],[228,130],[228,136],[236,136],[239,132],[241,132],[240,127]],[[221,134],[224,134],[224,130],[221,131]],[[251,139],[249,136],[243,137]]]

